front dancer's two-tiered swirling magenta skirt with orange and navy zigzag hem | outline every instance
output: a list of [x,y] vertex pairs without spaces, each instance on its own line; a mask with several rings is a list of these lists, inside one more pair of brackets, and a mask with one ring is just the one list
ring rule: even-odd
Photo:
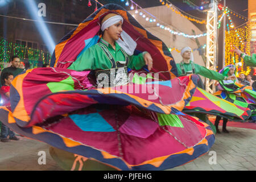
[[168,81],[135,73],[129,84],[96,88],[89,72],[36,68],[11,85],[0,121],[16,133],[118,170],[162,170],[209,151],[209,125],[184,114],[197,76]]

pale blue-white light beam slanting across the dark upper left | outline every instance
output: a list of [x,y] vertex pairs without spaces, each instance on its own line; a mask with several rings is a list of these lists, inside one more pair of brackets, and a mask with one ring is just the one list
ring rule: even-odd
[[42,39],[46,44],[48,51],[50,53],[53,53],[55,49],[55,43],[53,42],[52,35],[50,34],[46,23],[43,22],[43,18],[38,16],[38,6],[36,6],[34,0],[27,0],[24,3],[26,3],[30,15],[34,19],[38,20],[38,22],[35,22],[36,27],[38,28],[38,31],[40,32],[40,35],[42,36]]

